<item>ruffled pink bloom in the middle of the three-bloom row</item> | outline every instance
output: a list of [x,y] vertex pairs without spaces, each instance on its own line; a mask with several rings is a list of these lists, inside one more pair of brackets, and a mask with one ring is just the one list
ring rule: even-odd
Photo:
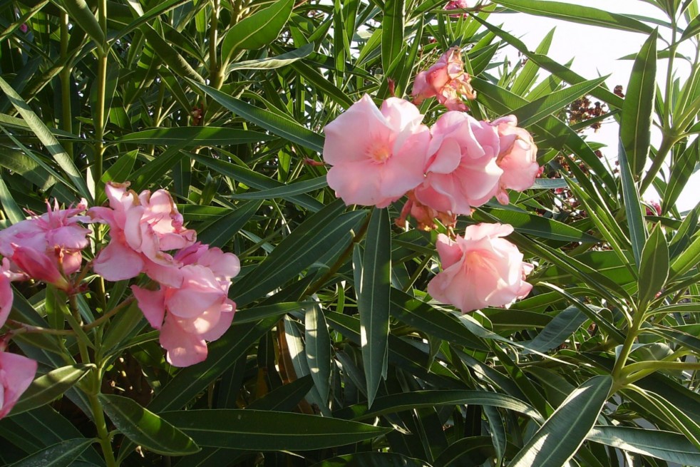
[[444,113],[431,133],[427,174],[416,199],[440,212],[469,215],[498,191],[498,133],[462,112]]

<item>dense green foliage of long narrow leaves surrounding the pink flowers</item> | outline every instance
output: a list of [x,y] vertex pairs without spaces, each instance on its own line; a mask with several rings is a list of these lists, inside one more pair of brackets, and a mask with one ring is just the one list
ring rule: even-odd
[[[71,336],[17,334],[39,377],[0,420],[0,460],[700,466],[700,207],[674,207],[700,162],[700,16],[696,0],[644,1],[656,17],[539,0],[0,1],[2,226],[46,198],[101,205],[105,183],[130,180],[168,188],[199,240],[242,262],[232,327],[186,369],[135,303],[89,326],[129,281],[88,277],[87,354]],[[500,29],[503,9],[648,40],[612,90],[547,58],[552,34],[531,51]],[[465,315],[426,294],[436,231],[393,225],[403,202],[346,207],[309,163],[326,123],[364,94],[408,96],[451,46],[473,76],[470,113],[517,116],[544,166],[510,205],[460,217],[457,232],[513,225],[535,265],[530,297]],[[432,123],[443,109],[421,111]],[[581,132],[613,118],[619,148],[601,158]],[[639,195],[652,186],[658,212]],[[51,287],[14,285],[12,319],[71,329]]]

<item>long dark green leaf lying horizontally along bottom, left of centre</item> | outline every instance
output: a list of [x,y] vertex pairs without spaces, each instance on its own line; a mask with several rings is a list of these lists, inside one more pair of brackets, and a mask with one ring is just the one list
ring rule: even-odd
[[168,412],[163,417],[201,446],[249,451],[309,451],[358,443],[391,431],[356,421],[260,410]]

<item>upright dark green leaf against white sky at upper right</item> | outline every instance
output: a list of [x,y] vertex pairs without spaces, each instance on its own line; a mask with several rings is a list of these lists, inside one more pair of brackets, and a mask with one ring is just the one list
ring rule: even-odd
[[652,138],[654,89],[657,78],[657,36],[654,31],[637,54],[622,104],[619,137],[635,178],[644,170]]

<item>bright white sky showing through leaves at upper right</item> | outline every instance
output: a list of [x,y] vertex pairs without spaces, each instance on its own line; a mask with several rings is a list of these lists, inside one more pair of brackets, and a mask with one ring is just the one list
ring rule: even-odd
[[[567,3],[592,6],[613,13],[626,13],[640,16],[650,16],[666,19],[662,12],[642,0],[565,0]],[[627,31],[615,31],[595,26],[575,24],[568,21],[543,18],[527,14],[493,14],[491,21],[503,22],[503,29],[519,37],[530,50],[535,50],[545,34],[556,27],[554,41],[548,56],[560,63],[567,63],[575,58],[572,69],[587,79],[610,74],[606,83],[612,90],[621,84],[627,88],[629,73],[632,71],[632,60],[619,60],[620,57],[637,53],[647,36]],[[665,82],[666,61],[659,63],[659,81]],[[687,73],[683,68],[679,73]],[[595,101],[595,99],[594,99]],[[617,133],[619,126],[614,121],[604,123],[597,133],[587,133],[587,139],[604,143],[608,148],[603,153],[608,158],[617,155]],[[654,141],[656,143],[654,144]],[[657,138],[652,138],[652,144],[658,145]],[[680,212],[690,210],[700,202],[700,172],[693,175],[686,190],[681,194],[677,207]],[[651,200],[657,197],[655,193],[647,192],[644,197]]]

